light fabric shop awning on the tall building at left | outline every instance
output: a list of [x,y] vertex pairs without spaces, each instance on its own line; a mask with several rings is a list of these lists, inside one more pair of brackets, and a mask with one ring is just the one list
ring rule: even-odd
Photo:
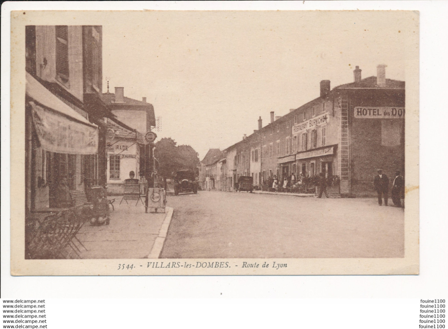
[[26,95],[43,150],[68,154],[98,152],[98,127],[26,73]]

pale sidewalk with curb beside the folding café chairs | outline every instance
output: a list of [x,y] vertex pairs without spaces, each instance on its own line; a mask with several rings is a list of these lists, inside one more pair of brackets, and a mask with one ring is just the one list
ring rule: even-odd
[[77,238],[83,259],[132,259],[158,258],[171,222],[173,209],[166,207],[165,213],[145,213],[145,207],[135,201],[119,205],[116,198],[115,210],[110,211],[110,224],[91,226],[86,222]]

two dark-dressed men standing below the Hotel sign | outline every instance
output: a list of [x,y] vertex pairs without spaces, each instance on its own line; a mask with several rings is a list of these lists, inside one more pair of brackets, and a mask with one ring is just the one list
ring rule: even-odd
[[[378,194],[378,205],[383,204],[388,205],[389,198],[389,178],[387,175],[383,174],[383,170],[378,169],[377,175],[373,179],[373,184],[375,187],[375,191]],[[405,179],[401,176],[401,172],[399,170],[395,171],[395,177],[392,182],[392,202],[397,207],[401,207],[401,197],[403,196],[405,188]]]

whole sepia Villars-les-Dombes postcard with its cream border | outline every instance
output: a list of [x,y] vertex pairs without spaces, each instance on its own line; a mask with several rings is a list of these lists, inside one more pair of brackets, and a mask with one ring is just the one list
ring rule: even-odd
[[11,274],[419,273],[417,11],[13,11]]

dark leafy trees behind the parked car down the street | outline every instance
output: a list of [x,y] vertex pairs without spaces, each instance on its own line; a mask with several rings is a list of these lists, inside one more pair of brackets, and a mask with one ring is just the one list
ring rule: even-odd
[[154,156],[159,161],[159,175],[171,177],[181,169],[198,172],[198,153],[190,145],[179,145],[172,138],[164,137],[155,143]]

